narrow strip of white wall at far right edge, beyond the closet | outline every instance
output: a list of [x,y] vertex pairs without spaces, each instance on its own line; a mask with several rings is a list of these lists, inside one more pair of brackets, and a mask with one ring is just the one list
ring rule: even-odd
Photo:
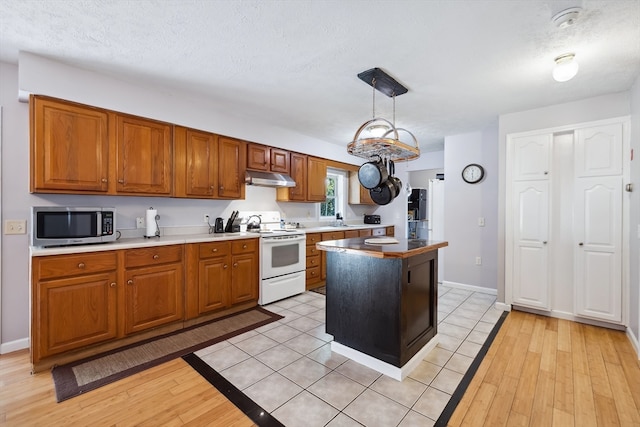
[[631,149],[634,159],[631,162],[630,236],[629,236],[629,328],[635,339],[638,358],[640,358],[640,76],[631,88]]

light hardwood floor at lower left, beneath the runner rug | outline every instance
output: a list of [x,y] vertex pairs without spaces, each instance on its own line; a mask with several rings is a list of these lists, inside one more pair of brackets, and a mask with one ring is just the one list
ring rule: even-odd
[[61,403],[51,374],[30,369],[26,350],[0,356],[0,425],[254,425],[182,359]]

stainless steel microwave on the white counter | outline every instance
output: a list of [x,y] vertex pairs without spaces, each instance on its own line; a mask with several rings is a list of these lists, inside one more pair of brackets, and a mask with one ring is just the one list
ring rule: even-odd
[[66,246],[116,240],[116,209],[64,206],[31,208],[31,244]]

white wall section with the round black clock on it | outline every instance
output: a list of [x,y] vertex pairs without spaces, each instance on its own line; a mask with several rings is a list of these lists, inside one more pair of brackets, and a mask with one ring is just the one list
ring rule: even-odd
[[[445,138],[444,234],[449,242],[445,284],[497,288],[497,138],[497,124]],[[485,169],[485,178],[478,184],[462,180],[462,169],[469,163]],[[479,218],[484,218],[484,227],[478,225]],[[476,265],[476,257],[481,265]]]

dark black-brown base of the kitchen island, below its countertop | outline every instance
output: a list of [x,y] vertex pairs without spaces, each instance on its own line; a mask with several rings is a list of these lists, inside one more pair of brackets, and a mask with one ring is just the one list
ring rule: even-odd
[[402,368],[437,334],[437,268],[437,250],[409,258],[327,252],[327,333],[339,348]]

